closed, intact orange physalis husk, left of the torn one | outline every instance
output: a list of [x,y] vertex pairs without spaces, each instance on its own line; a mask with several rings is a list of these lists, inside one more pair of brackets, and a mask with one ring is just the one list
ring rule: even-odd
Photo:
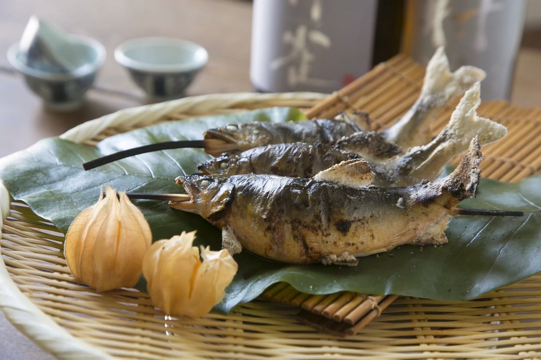
[[[120,198],[120,199],[119,199]],[[105,197],[81,212],[64,242],[71,273],[97,291],[133,287],[141,277],[152,234],[126,193],[105,185]]]

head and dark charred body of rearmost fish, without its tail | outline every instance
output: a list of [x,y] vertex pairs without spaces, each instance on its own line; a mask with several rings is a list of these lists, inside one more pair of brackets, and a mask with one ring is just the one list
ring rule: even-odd
[[[245,151],[254,147],[290,143],[334,143],[344,135],[361,131],[351,121],[338,119],[318,119],[305,121],[252,122],[238,125],[227,125],[210,129],[203,133],[204,139],[219,139],[227,146],[206,148],[211,155],[236,150]],[[234,147],[234,148],[233,148]]]

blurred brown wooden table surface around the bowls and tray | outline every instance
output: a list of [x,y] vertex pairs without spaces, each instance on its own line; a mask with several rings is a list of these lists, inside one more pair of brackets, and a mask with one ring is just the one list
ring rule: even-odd
[[[209,52],[206,68],[187,95],[252,91],[249,80],[252,2],[243,0],[3,0],[0,2],[0,54],[19,40],[31,15],[56,23],[72,34],[100,41],[107,60],[84,106],[54,113],[16,76],[0,56],[0,156],[27,148],[39,139],[62,134],[84,121],[147,103],[113,51],[140,36],[172,36],[194,41]],[[521,49],[512,102],[541,107],[541,51]],[[0,313],[0,359],[50,359]]]

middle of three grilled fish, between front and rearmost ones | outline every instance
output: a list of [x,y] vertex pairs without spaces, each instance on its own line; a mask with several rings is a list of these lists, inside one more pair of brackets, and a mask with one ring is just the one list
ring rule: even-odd
[[380,133],[355,133],[335,145],[283,143],[222,154],[201,163],[199,171],[208,175],[275,174],[311,178],[341,161],[362,158],[370,163],[377,186],[406,186],[423,179],[434,180],[454,155],[467,150],[475,136],[481,145],[507,133],[504,126],[476,114],[480,104],[479,83],[466,91],[451,115],[449,124],[430,143],[401,154],[401,148]]

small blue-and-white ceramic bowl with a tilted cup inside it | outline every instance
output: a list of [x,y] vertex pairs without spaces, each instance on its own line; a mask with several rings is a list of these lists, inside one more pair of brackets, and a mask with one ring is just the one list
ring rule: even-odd
[[70,59],[73,66],[70,71],[29,66],[27,55],[19,50],[19,43],[8,49],[9,62],[24,75],[30,89],[43,99],[45,106],[59,111],[73,110],[83,103],[85,93],[105,61],[105,48],[92,38],[70,36],[62,54]]

